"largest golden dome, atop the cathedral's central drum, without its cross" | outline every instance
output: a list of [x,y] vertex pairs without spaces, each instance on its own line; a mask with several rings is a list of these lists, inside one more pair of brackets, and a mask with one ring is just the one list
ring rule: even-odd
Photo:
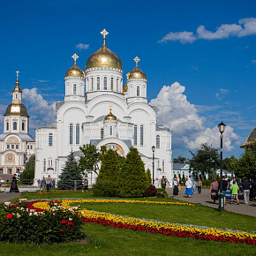
[[110,67],[123,70],[123,64],[119,56],[112,52],[105,44],[87,59],[86,69],[96,67]]

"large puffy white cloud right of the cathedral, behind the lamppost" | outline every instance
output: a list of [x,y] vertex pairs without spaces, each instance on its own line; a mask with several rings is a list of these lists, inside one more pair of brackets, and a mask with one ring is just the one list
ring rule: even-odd
[[[157,97],[150,102],[157,108],[157,124],[166,125],[173,131],[173,148],[196,149],[201,143],[219,147],[218,127],[205,127],[204,118],[200,117],[197,107],[187,101],[184,90],[185,87],[175,82],[170,87],[162,87]],[[232,150],[238,139],[233,128],[227,126],[223,142],[225,150]]]

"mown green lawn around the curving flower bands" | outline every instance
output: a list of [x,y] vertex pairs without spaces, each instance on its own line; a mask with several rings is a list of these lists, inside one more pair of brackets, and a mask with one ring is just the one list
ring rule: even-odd
[[[50,192],[38,194],[29,192],[22,195],[28,200],[54,198],[94,198],[92,193]],[[139,199],[145,200],[145,199]],[[147,199],[166,200],[171,199]],[[87,209],[105,211],[111,214],[128,215],[166,222],[192,223],[208,227],[230,228],[232,230],[256,230],[256,218],[219,212],[213,208],[196,206],[162,206],[124,203],[85,203]],[[0,243],[1,255],[253,255],[255,246],[223,242],[200,241],[192,238],[166,237],[142,231],[119,230],[94,223],[84,224],[88,244],[69,245],[12,245]]]

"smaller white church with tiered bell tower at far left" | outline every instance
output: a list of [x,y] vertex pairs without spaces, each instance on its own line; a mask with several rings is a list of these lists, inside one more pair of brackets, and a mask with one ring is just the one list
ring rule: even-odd
[[21,173],[26,161],[35,152],[35,141],[29,134],[29,116],[22,103],[17,72],[16,87],[12,90],[12,102],[4,113],[4,133],[0,134],[0,177],[11,179]]

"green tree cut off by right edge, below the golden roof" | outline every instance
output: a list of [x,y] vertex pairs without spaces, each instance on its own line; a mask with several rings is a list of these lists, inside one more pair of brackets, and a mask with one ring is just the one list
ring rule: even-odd
[[235,170],[237,177],[248,177],[255,179],[256,177],[256,147],[245,148],[244,154],[241,155],[237,169]]

